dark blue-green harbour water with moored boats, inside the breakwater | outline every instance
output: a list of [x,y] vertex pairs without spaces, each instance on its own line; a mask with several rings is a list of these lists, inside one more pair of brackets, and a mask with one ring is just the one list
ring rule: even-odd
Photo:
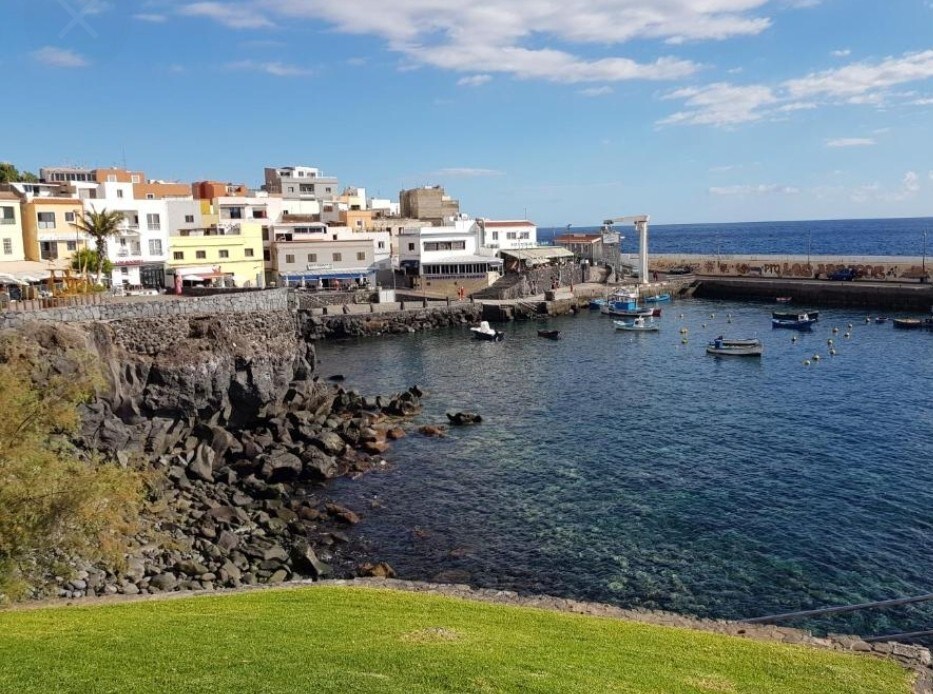
[[[348,387],[425,388],[418,423],[485,418],[412,433],[331,494],[403,578],[730,618],[933,592],[933,334],[843,310],[772,330],[775,307],[675,302],[659,334],[585,313],[547,323],[559,342],[515,323],[502,343],[463,328],[320,345],[320,373]],[[719,334],[765,354],[706,355]],[[930,628],[933,607],[809,626]]]

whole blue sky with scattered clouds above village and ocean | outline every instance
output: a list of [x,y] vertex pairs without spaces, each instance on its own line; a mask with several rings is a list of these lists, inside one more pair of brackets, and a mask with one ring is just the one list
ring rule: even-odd
[[588,226],[933,215],[933,0],[2,0],[0,160]]

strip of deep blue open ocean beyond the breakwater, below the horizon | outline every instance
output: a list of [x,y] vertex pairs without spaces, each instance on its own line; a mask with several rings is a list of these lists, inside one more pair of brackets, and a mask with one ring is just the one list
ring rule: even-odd
[[[638,251],[631,224],[614,226],[626,238],[623,253]],[[541,228],[538,240],[550,243],[566,228]],[[570,227],[575,233],[596,233],[599,227]],[[924,255],[924,232],[933,252],[933,218],[840,219],[801,222],[747,222],[736,224],[649,225],[652,253],[701,255]]]

